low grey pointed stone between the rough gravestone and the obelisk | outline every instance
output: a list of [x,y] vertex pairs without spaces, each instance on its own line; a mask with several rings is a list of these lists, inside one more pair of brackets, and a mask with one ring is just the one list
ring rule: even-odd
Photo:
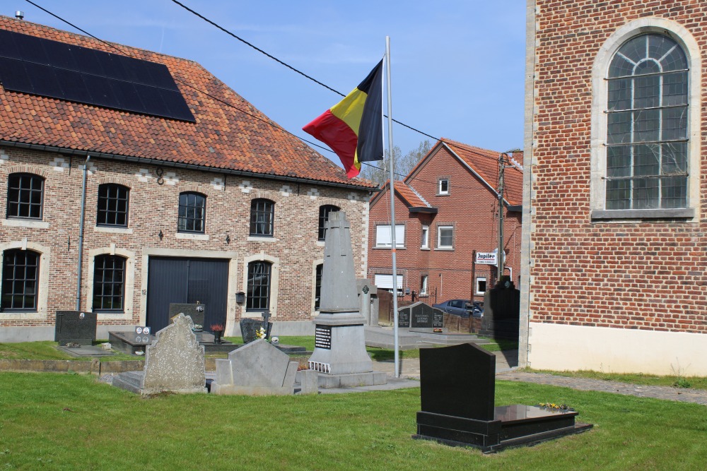
[[294,393],[298,362],[260,339],[216,359],[211,393],[219,395],[289,395]]

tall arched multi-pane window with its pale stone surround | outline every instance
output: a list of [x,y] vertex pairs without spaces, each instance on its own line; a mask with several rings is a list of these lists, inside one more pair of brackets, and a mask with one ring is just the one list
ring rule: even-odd
[[595,59],[592,219],[699,212],[700,49],[665,18],[634,20]]

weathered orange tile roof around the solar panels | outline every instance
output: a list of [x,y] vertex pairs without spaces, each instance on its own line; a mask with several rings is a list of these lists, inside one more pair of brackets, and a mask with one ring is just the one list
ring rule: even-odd
[[[117,53],[111,45],[90,37],[5,16],[0,16],[0,29]],[[341,167],[279,129],[196,62],[115,46],[127,56],[165,64],[196,122],[0,89],[0,141],[143,157],[223,171],[252,172],[264,177],[308,179],[366,189],[375,187],[366,180],[347,179]]]

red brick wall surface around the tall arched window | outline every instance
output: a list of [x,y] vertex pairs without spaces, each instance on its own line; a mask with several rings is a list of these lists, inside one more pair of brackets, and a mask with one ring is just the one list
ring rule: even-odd
[[[592,221],[592,66],[617,28],[665,18],[686,28],[707,64],[701,1],[535,2],[530,321],[707,333],[707,110],[694,220]],[[707,102],[705,69],[699,95]],[[604,136],[605,137],[605,136]]]

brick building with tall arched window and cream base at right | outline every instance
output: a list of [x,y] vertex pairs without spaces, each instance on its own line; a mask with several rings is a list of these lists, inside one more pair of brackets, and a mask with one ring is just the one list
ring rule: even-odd
[[527,2],[521,364],[707,375],[705,18]]

